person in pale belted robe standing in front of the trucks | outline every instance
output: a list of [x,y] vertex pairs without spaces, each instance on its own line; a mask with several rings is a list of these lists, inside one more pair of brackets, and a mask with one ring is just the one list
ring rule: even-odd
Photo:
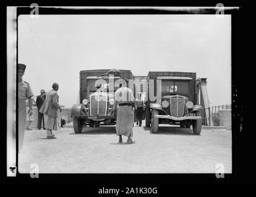
[[114,94],[113,110],[116,114],[116,135],[119,135],[119,143],[122,143],[122,135],[128,137],[127,143],[132,143],[133,136],[135,98],[127,83],[127,80],[123,81]]

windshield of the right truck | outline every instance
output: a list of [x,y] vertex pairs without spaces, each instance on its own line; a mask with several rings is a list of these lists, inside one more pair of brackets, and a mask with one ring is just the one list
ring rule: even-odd
[[162,94],[189,94],[188,81],[161,81]]

